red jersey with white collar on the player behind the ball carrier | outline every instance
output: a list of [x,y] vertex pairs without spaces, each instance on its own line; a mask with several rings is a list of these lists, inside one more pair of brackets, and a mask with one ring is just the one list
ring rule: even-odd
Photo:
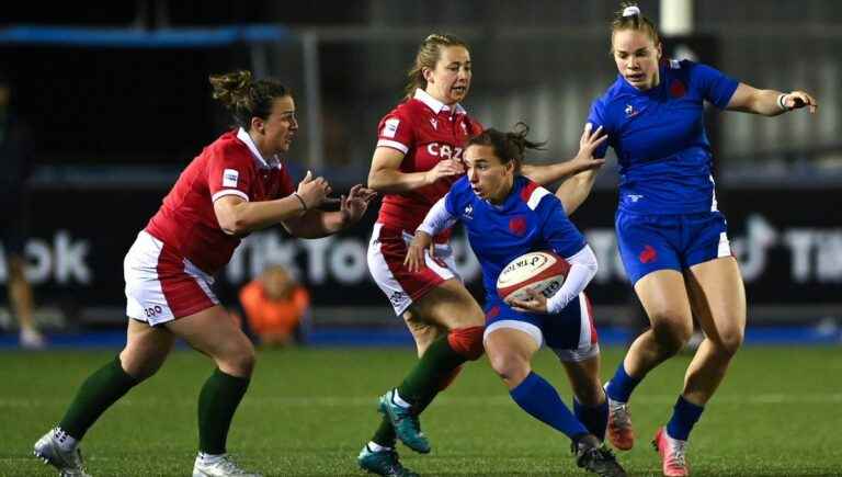
[[[442,159],[462,160],[468,138],[482,132],[482,125],[468,117],[460,105],[448,107],[423,90],[399,104],[377,126],[377,147],[405,154],[401,172],[429,171]],[[430,207],[451,190],[458,177],[444,178],[412,191],[385,194],[377,222],[414,232]],[[436,237],[446,241],[450,230]]]

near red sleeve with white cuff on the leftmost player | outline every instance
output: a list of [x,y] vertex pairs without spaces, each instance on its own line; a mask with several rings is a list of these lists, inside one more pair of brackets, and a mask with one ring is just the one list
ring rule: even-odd
[[207,186],[212,202],[225,195],[251,200],[254,160],[248,149],[244,152],[235,147],[208,149]]

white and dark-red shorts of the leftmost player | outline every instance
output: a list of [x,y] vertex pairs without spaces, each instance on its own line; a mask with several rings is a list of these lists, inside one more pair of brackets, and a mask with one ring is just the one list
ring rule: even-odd
[[141,230],[123,261],[126,315],[149,326],[219,305],[213,276]]

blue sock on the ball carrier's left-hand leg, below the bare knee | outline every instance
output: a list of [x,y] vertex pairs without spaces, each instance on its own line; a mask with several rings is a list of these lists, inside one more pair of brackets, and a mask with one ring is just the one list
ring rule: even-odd
[[561,401],[556,388],[536,373],[530,373],[523,383],[509,391],[517,406],[553,429],[564,432],[571,440],[588,430]]

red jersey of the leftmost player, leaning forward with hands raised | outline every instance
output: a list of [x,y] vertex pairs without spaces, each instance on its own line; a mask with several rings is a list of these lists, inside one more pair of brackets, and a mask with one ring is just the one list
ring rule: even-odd
[[230,130],[205,147],[184,169],[146,231],[202,271],[214,274],[228,263],[241,239],[219,227],[214,201],[225,195],[270,201],[294,191],[277,158],[266,161],[246,130]]

